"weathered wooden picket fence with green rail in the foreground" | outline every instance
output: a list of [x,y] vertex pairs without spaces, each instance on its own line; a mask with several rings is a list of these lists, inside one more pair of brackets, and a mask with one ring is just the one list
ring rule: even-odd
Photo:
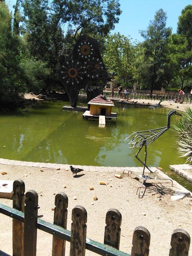
[[[34,190],[25,194],[23,180],[15,180],[13,208],[0,204],[0,213],[13,218],[13,256],[36,255],[37,229],[53,235],[52,256],[65,255],[66,241],[70,242],[70,256],[84,256],[86,250],[106,256],[149,256],[150,233],[142,226],[134,230],[131,255],[119,251],[121,213],[116,209],[110,209],[106,213],[102,244],[86,238],[87,212],[80,205],[72,210],[71,231],[66,230],[68,197],[65,193],[61,192],[55,197],[53,224],[38,219],[38,208],[38,194]],[[187,231],[176,229],[172,233],[170,244],[167,255],[187,256],[190,236]]]

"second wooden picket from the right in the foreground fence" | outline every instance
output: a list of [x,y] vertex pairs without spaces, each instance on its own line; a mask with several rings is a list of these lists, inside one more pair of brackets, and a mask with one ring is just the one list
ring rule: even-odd
[[149,256],[150,233],[147,228],[136,227],[133,233],[131,256]]

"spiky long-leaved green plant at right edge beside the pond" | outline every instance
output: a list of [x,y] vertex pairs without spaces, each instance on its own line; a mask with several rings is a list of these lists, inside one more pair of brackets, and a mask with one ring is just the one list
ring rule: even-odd
[[187,157],[186,162],[192,163],[192,110],[185,108],[182,118],[174,125],[178,134],[178,150],[181,157]]

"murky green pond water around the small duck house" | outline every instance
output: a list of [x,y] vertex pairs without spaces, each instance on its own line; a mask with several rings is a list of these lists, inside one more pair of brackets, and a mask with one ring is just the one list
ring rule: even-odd
[[[63,101],[43,101],[28,112],[0,112],[0,158],[32,162],[51,162],[95,166],[141,166],[130,148],[134,131],[166,126],[170,109],[151,109],[117,104],[116,121],[99,128],[99,120],[82,118],[82,112],[62,111]],[[171,124],[179,118],[172,116]],[[144,153],[144,152],[143,152]],[[144,156],[142,152],[141,155]],[[162,167],[189,190],[191,183],[169,170],[169,165],[184,164],[177,153],[174,131],[169,129],[147,146],[147,165]]]

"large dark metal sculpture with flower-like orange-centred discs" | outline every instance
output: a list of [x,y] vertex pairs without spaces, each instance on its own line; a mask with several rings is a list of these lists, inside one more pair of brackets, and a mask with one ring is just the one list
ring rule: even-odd
[[66,46],[58,57],[61,64],[58,76],[65,88],[71,106],[76,107],[78,92],[85,89],[87,102],[102,93],[111,78],[101,58],[99,43],[88,35],[80,35],[68,56]]

